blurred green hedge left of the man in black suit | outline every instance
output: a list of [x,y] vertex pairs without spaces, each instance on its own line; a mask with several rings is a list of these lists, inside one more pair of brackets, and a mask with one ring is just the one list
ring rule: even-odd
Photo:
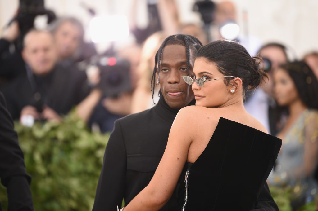
[[[74,115],[32,128],[17,123],[15,129],[32,176],[35,210],[91,210],[109,135],[91,133]],[[3,187],[0,201],[7,201]]]

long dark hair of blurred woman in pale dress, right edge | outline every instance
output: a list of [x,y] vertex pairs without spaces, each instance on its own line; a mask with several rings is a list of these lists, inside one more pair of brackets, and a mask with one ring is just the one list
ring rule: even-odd
[[318,80],[305,62],[290,62],[280,66],[293,79],[302,102],[311,109],[318,109]]

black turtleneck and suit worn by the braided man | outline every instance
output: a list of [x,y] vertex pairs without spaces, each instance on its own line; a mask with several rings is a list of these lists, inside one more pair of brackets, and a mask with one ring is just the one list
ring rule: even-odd
[[[104,155],[93,211],[116,210],[117,206],[121,207],[123,198],[127,205],[149,184],[166,148],[178,111],[171,109],[161,97],[153,108],[115,122]],[[267,186],[262,188],[257,208],[278,210]],[[160,210],[176,211],[176,195],[172,195]]]

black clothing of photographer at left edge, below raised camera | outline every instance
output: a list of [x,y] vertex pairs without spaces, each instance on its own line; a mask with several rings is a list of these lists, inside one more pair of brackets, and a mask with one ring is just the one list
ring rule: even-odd
[[10,42],[0,39],[0,78],[7,81],[25,75],[24,65],[21,51],[16,48],[11,52]]

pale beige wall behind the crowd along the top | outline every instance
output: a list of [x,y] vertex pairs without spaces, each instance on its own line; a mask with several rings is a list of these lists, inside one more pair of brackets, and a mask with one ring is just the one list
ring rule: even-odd
[[[140,0],[145,1],[145,0]],[[99,15],[127,14],[132,0],[46,0],[47,8],[58,15],[73,15],[87,27],[89,15],[80,6],[86,2],[97,9]],[[217,0],[216,2],[219,2]],[[248,12],[249,34],[262,42],[278,41],[291,46],[302,56],[309,50],[318,50],[318,0],[233,0],[238,8],[239,23],[242,25],[242,11]],[[197,22],[192,12],[194,0],[177,0],[180,18],[183,22]],[[0,0],[0,26],[10,19],[18,0]],[[140,14],[142,22],[143,15]]]

